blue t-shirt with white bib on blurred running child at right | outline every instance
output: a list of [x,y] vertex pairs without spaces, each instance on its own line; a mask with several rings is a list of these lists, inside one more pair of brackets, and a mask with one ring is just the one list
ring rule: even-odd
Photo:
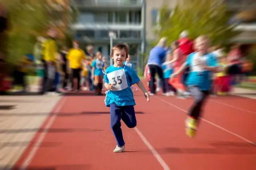
[[218,66],[216,57],[211,53],[204,56],[198,56],[197,53],[191,53],[186,60],[186,65],[190,67],[186,85],[198,86],[200,90],[210,90],[212,86],[212,71],[200,68],[198,60],[204,62],[207,66]]

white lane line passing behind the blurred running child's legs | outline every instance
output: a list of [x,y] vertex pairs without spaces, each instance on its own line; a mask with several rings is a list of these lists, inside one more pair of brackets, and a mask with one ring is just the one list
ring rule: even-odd
[[[158,97],[156,97],[156,96],[155,96],[155,98],[157,98],[158,100],[161,100],[161,101],[163,101],[163,102],[169,104],[170,106],[173,106],[173,107],[175,107],[175,108],[177,108],[177,109],[180,109],[181,111],[184,111],[185,113],[188,113],[188,111],[186,111],[186,110],[184,110],[184,109],[182,109],[182,108],[180,108],[180,107],[178,107],[178,106],[175,106],[174,104],[172,104],[172,103],[170,103],[170,102],[166,102],[165,100],[163,100],[163,99],[161,99],[161,98],[158,98]],[[219,129],[222,129],[222,130],[225,131],[225,132],[228,132],[228,133],[230,133],[230,134],[232,134],[232,135],[234,135],[234,136],[236,136],[236,137],[242,139],[243,141],[246,141],[246,142],[248,142],[248,143],[250,143],[250,144],[252,144],[252,145],[256,145],[256,143],[254,143],[254,142],[252,142],[252,141],[250,141],[250,140],[248,140],[248,139],[246,139],[246,138],[244,138],[244,137],[242,137],[242,136],[240,136],[240,135],[238,135],[238,134],[236,134],[236,133],[234,133],[234,132],[232,132],[232,131],[229,131],[228,129],[225,129],[224,127],[221,127],[221,126],[219,126],[219,125],[216,125],[215,123],[212,123],[211,121],[208,121],[208,120],[206,120],[206,119],[204,119],[204,118],[201,118],[201,119],[202,119],[203,121],[205,121],[206,123],[209,123],[210,125],[213,125],[213,126],[219,128]]]

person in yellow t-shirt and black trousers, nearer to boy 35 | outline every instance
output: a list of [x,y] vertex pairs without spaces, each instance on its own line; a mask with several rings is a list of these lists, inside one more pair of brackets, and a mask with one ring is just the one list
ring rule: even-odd
[[73,41],[73,48],[68,51],[67,59],[69,67],[72,72],[72,88],[76,91],[80,90],[80,72],[83,60],[86,60],[86,55],[82,49],[79,48],[79,42]]

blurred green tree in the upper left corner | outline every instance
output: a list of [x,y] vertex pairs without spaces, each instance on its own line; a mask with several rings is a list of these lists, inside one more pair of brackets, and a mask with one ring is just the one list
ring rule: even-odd
[[[77,10],[66,7],[56,9],[47,0],[3,0],[8,8],[10,28],[8,31],[9,63],[16,63],[24,54],[32,53],[38,35],[46,35],[49,26],[56,27],[65,41],[70,32],[68,25],[77,16]],[[68,1],[68,2],[71,2]],[[57,6],[58,7],[58,6]]]

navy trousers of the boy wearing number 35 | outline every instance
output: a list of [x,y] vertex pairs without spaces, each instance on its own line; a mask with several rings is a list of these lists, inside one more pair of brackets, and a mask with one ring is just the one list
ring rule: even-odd
[[118,147],[122,147],[125,144],[121,129],[121,119],[124,121],[127,127],[135,127],[137,121],[134,107],[110,104],[110,126],[116,138]]

